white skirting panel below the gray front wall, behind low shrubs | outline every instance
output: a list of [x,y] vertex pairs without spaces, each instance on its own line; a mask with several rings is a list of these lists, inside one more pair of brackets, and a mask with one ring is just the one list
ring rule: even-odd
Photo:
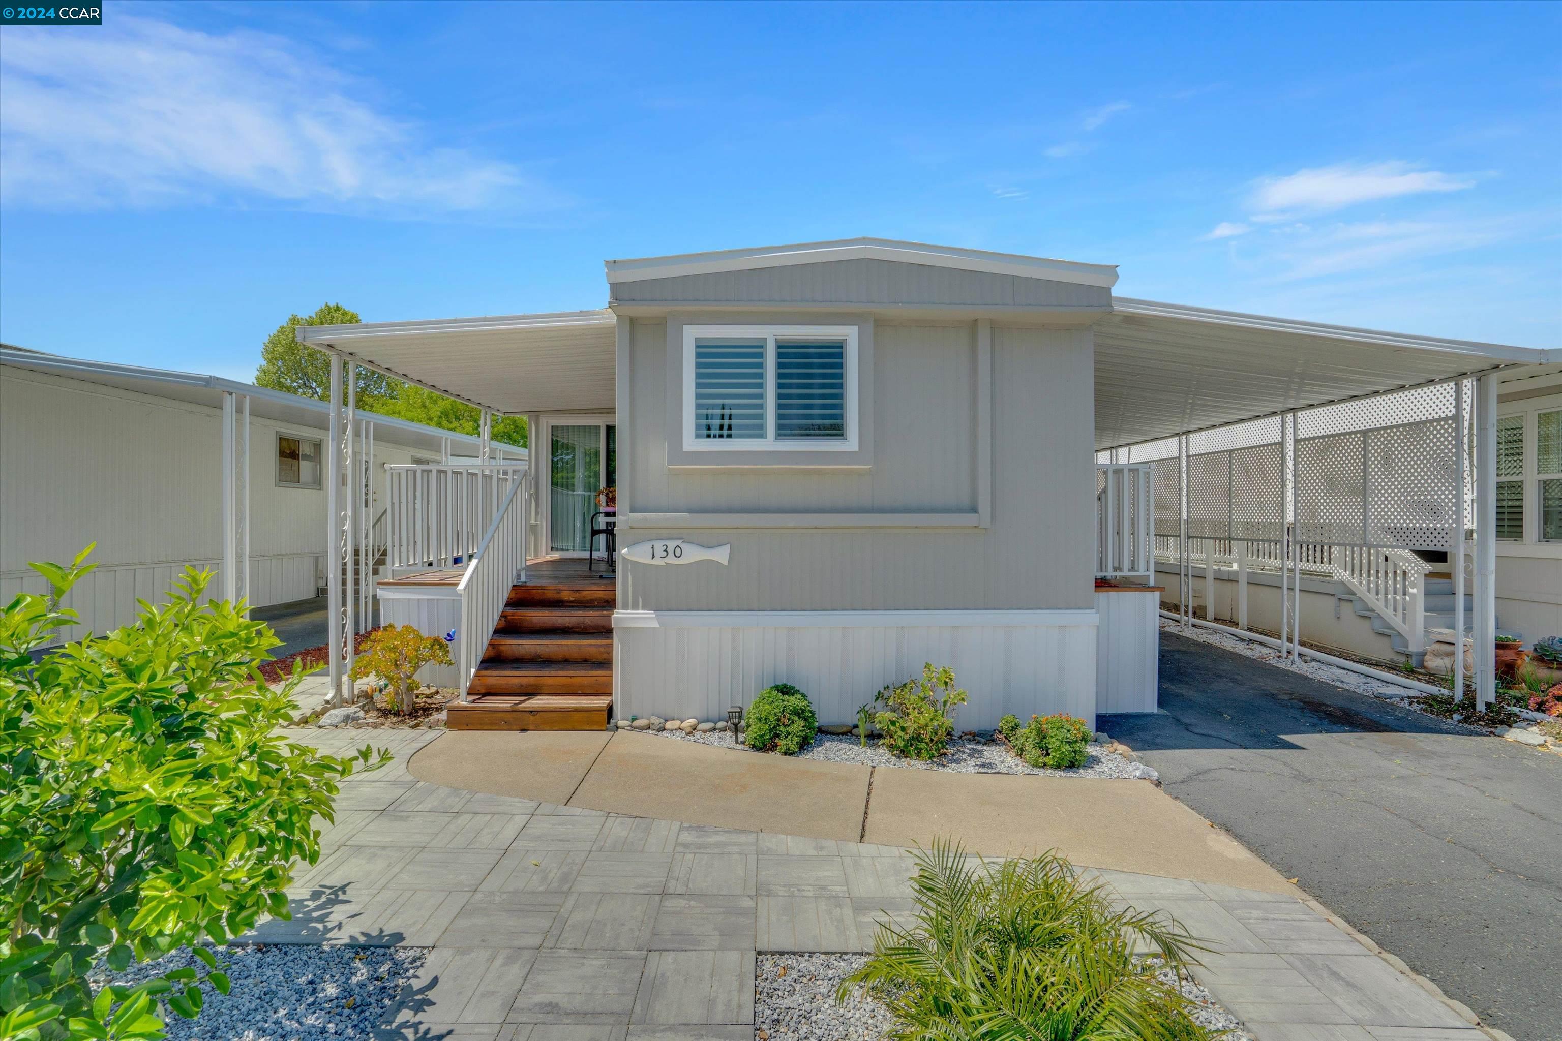
[[614,713],[725,719],[772,684],[853,723],[886,684],[954,668],[959,729],[1067,712],[1095,726],[1093,610],[617,612]]

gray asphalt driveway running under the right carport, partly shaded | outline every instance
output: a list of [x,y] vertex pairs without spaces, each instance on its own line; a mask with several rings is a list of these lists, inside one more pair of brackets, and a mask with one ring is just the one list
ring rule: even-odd
[[1484,1021],[1562,1038],[1562,757],[1167,632],[1161,712],[1098,726]]

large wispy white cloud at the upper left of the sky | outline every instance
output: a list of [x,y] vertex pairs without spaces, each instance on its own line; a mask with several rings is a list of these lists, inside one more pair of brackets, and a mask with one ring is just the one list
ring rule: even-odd
[[428,142],[373,84],[259,33],[119,17],[92,33],[17,30],[0,50],[0,198],[47,208],[237,195],[419,215],[555,209],[508,162]]

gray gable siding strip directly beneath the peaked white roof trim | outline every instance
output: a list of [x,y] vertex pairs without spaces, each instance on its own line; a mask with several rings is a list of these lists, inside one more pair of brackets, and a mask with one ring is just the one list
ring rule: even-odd
[[609,287],[612,303],[875,304],[904,307],[1061,307],[1107,311],[1112,290],[1043,278],[900,261],[828,261],[747,272],[648,278]]

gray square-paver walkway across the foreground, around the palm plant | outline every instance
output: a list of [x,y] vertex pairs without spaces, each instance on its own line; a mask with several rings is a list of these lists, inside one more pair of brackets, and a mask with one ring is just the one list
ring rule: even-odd
[[[295,734],[331,752],[370,738],[398,759],[344,783],[294,919],[253,940],[433,947],[387,1036],[750,1041],[756,952],[867,950],[875,922],[911,908],[898,846],[417,780],[408,757],[439,732]],[[1220,947],[1198,975],[1262,1041],[1484,1036],[1293,896],[1097,874]]]

